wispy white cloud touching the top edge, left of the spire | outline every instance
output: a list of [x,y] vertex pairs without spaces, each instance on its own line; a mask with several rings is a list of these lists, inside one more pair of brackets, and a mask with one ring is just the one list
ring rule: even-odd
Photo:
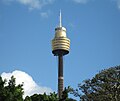
[[28,6],[29,9],[40,9],[47,4],[51,4],[54,0],[3,0],[6,3],[17,2]]

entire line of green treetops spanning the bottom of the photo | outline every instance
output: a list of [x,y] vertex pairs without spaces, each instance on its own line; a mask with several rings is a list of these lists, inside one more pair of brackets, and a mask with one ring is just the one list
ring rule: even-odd
[[68,97],[69,93],[79,97],[80,101],[120,101],[120,66],[100,71],[92,79],[78,84],[76,90],[65,88],[61,99],[55,92],[34,94],[23,99],[23,84],[16,85],[13,76],[6,83],[0,76],[0,101],[76,101]]

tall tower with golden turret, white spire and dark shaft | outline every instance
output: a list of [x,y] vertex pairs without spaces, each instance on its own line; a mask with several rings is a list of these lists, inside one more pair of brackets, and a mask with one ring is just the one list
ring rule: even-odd
[[58,97],[62,97],[64,87],[63,77],[63,56],[69,53],[70,39],[67,38],[66,29],[62,26],[62,16],[60,11],[59,26],[55,28],[55,37],[52,40],[52,53],[58,56]]

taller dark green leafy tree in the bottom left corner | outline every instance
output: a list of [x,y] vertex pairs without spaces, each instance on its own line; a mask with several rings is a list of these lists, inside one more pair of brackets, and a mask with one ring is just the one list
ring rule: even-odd
[[15,84],[15,78],[12,76],[5,86],[6,80],[0,76],[0,101],[23,101],[23,85]]

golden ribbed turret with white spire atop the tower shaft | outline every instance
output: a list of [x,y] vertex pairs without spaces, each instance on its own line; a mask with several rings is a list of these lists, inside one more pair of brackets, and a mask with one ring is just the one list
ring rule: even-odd
[[67,38],[66,29],[62,27],[60,12],[60,24],[55,28],[55,37],[52,40],[52,53],[55,56],[66,55],[70,49],[70,39]]

